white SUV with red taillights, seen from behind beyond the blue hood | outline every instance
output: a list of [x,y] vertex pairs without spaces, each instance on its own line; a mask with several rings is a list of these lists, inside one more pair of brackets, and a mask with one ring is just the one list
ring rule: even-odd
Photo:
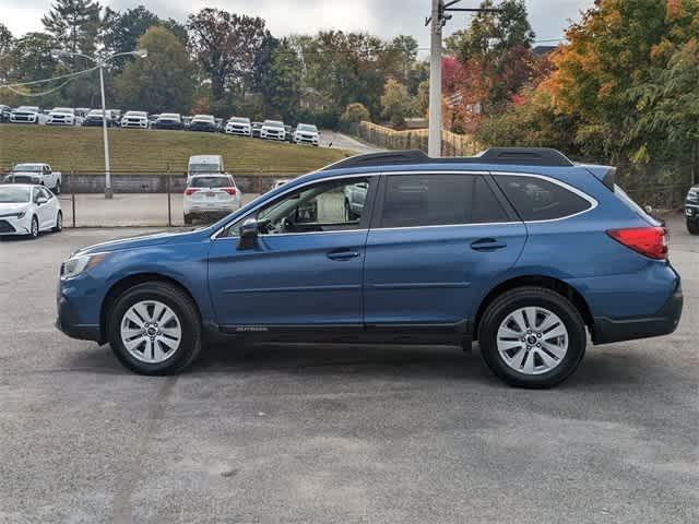
[[194,218],[213,219],[240,209],[242,193],[230,175],[197,175],[185,190],[185,224]]

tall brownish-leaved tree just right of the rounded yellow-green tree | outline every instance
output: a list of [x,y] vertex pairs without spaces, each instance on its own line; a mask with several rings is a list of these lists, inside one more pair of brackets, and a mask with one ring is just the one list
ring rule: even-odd
[[245,94],[266,35],[264,21],[205,8],[189,15],[187,28],[192,50],[211,80],[214,100],[223,99],[227,90]]

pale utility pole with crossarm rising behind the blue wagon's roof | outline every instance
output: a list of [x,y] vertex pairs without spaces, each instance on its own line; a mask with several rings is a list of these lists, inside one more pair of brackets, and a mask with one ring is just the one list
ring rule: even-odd
[[470,13],[498,13],[499,9],[467,9],[454,8],[461,0],[431,0],[431,14],[425,25],[430,26],[429,46],[429,142],[427,154],[431,157],[441,156],[441,43],[442,29],[451,20],[450,11]]

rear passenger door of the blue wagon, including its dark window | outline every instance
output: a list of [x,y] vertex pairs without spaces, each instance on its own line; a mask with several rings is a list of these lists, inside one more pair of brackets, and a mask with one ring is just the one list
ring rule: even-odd
[[488,174],[386,174],[366,246],[367,330],[461,329],[525,239]]

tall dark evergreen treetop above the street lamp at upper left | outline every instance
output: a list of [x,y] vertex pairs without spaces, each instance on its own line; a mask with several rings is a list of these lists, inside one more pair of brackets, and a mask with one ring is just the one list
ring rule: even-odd
[[102,7],[93,0],[56,0],[42,17],[57,47],[92,55],[97,44]]

